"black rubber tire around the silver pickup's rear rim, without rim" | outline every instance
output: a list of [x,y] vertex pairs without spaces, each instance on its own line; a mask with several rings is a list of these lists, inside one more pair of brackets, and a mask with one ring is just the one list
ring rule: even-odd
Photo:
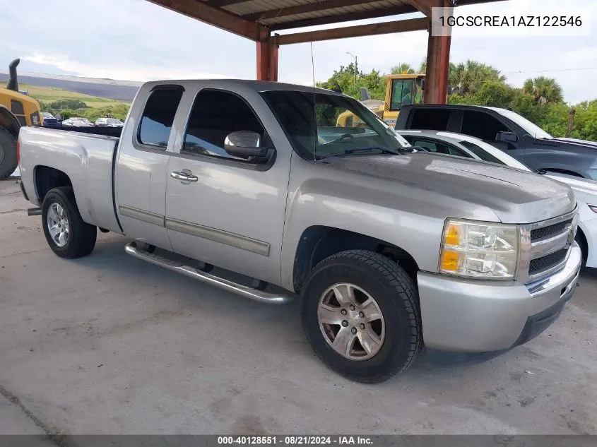
[[[69,223],[69,237],[64,246],[59,246],[49,233],[48,210],[52,203],[57,203],[64,209]],[[95,247],[97,227],[83,222],[71,186],[54,188],[48,191],[42,204],[42,227],[49,248],[61,258],[81,258],[90,254]]]

